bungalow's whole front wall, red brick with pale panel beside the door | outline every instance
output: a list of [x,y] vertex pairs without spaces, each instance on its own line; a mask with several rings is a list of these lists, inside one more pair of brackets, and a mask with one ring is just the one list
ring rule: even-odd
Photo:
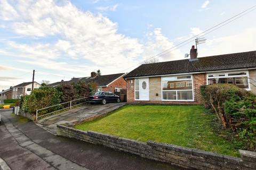
[[[201,104],[201,86],[206,84],[206,74],[193,74],[194,101],[162,101],[161,77],[149,77],[149,101],[134,100],[134,79],[127,79],[128,103]],[[158,94],[158,96],[156,95]]]

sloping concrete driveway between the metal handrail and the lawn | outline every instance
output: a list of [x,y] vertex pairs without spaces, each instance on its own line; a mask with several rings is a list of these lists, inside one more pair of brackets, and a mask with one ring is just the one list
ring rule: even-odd
[[91,117],[97,114],[108,113],[124,106],[126,103],[109,103],[106,105],[100,104],[86,104],[82,107],[77,107],[71,111],[62,112],[56,115],[42,118],[37,122],[45,130],[57,134],[57,125],[67,122],[76,122],[84,118]]

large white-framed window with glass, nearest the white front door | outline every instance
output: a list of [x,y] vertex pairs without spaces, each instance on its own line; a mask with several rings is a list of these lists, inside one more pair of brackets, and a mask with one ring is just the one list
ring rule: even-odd
[[162,77],[163,101],[194,101],[193,76]]

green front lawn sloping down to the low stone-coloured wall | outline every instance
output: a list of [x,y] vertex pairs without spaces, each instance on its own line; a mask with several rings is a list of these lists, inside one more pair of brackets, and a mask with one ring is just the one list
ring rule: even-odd
[[237,149],[242,147],[242,143],[234,138],[227,139],[227,131],[216,130],[215,115],[205,114],[201,105],[127,105],[75,128],[231,156],[239,156]]

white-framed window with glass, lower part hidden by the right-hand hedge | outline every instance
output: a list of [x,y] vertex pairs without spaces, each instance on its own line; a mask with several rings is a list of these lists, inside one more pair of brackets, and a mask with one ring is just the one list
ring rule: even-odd
[[250,90],[250,78],[248,71],[214,72],[207,74],[207,84],[228,83],[237,87]]

